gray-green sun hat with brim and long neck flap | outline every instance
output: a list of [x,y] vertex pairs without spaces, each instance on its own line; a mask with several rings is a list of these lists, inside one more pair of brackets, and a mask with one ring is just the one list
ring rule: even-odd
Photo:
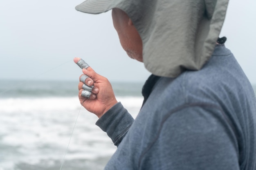
[[76,10],[125,11],[143,42],[143,62],[154,75],[177,77],[209,60],[229,0],[87,0]]

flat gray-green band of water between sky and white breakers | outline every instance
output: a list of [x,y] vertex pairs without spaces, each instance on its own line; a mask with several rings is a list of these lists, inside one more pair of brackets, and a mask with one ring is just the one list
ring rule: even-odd
[[[73,97],[78,94],[78,82],[65,81],[0,81],[0,98],[10,97]],[[112,83],[117,96],[141,96],[141,83]]]

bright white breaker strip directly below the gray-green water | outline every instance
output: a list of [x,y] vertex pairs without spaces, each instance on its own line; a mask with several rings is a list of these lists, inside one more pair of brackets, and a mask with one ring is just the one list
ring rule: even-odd
[[[117,97],[125,107],[139,108],[143,97]],[[54,110],[76,110],[80,108],[78,97],[18,97],[0,99],[0,113],[2,112],[34,112]]]

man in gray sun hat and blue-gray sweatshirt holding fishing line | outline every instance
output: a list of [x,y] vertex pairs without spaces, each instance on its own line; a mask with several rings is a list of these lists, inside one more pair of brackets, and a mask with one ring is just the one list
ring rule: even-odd
[[218,39],[227,0],[88,0],[76,9],[112,9],[122,47],[153,73],[134,120],[108,79],[74,59],[81,104],[118,146],[106,170],[256,170],[255,95]]

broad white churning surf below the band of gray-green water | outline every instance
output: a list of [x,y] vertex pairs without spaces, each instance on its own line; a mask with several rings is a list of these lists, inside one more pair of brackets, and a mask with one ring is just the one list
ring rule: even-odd
[[[143,101],[142,97],[117,100],[133,117]],[[5,155],[5,166],[0,168],[9,168],[8,162],[14,165],[20,161],[38,163],[42,159],[61,161],[80,107],[78,97],[0,99],[0,145],[16,152]],[[81,108],[66,159],[95,159],[115,152],[111,139],[95,125],[97,119]]]

